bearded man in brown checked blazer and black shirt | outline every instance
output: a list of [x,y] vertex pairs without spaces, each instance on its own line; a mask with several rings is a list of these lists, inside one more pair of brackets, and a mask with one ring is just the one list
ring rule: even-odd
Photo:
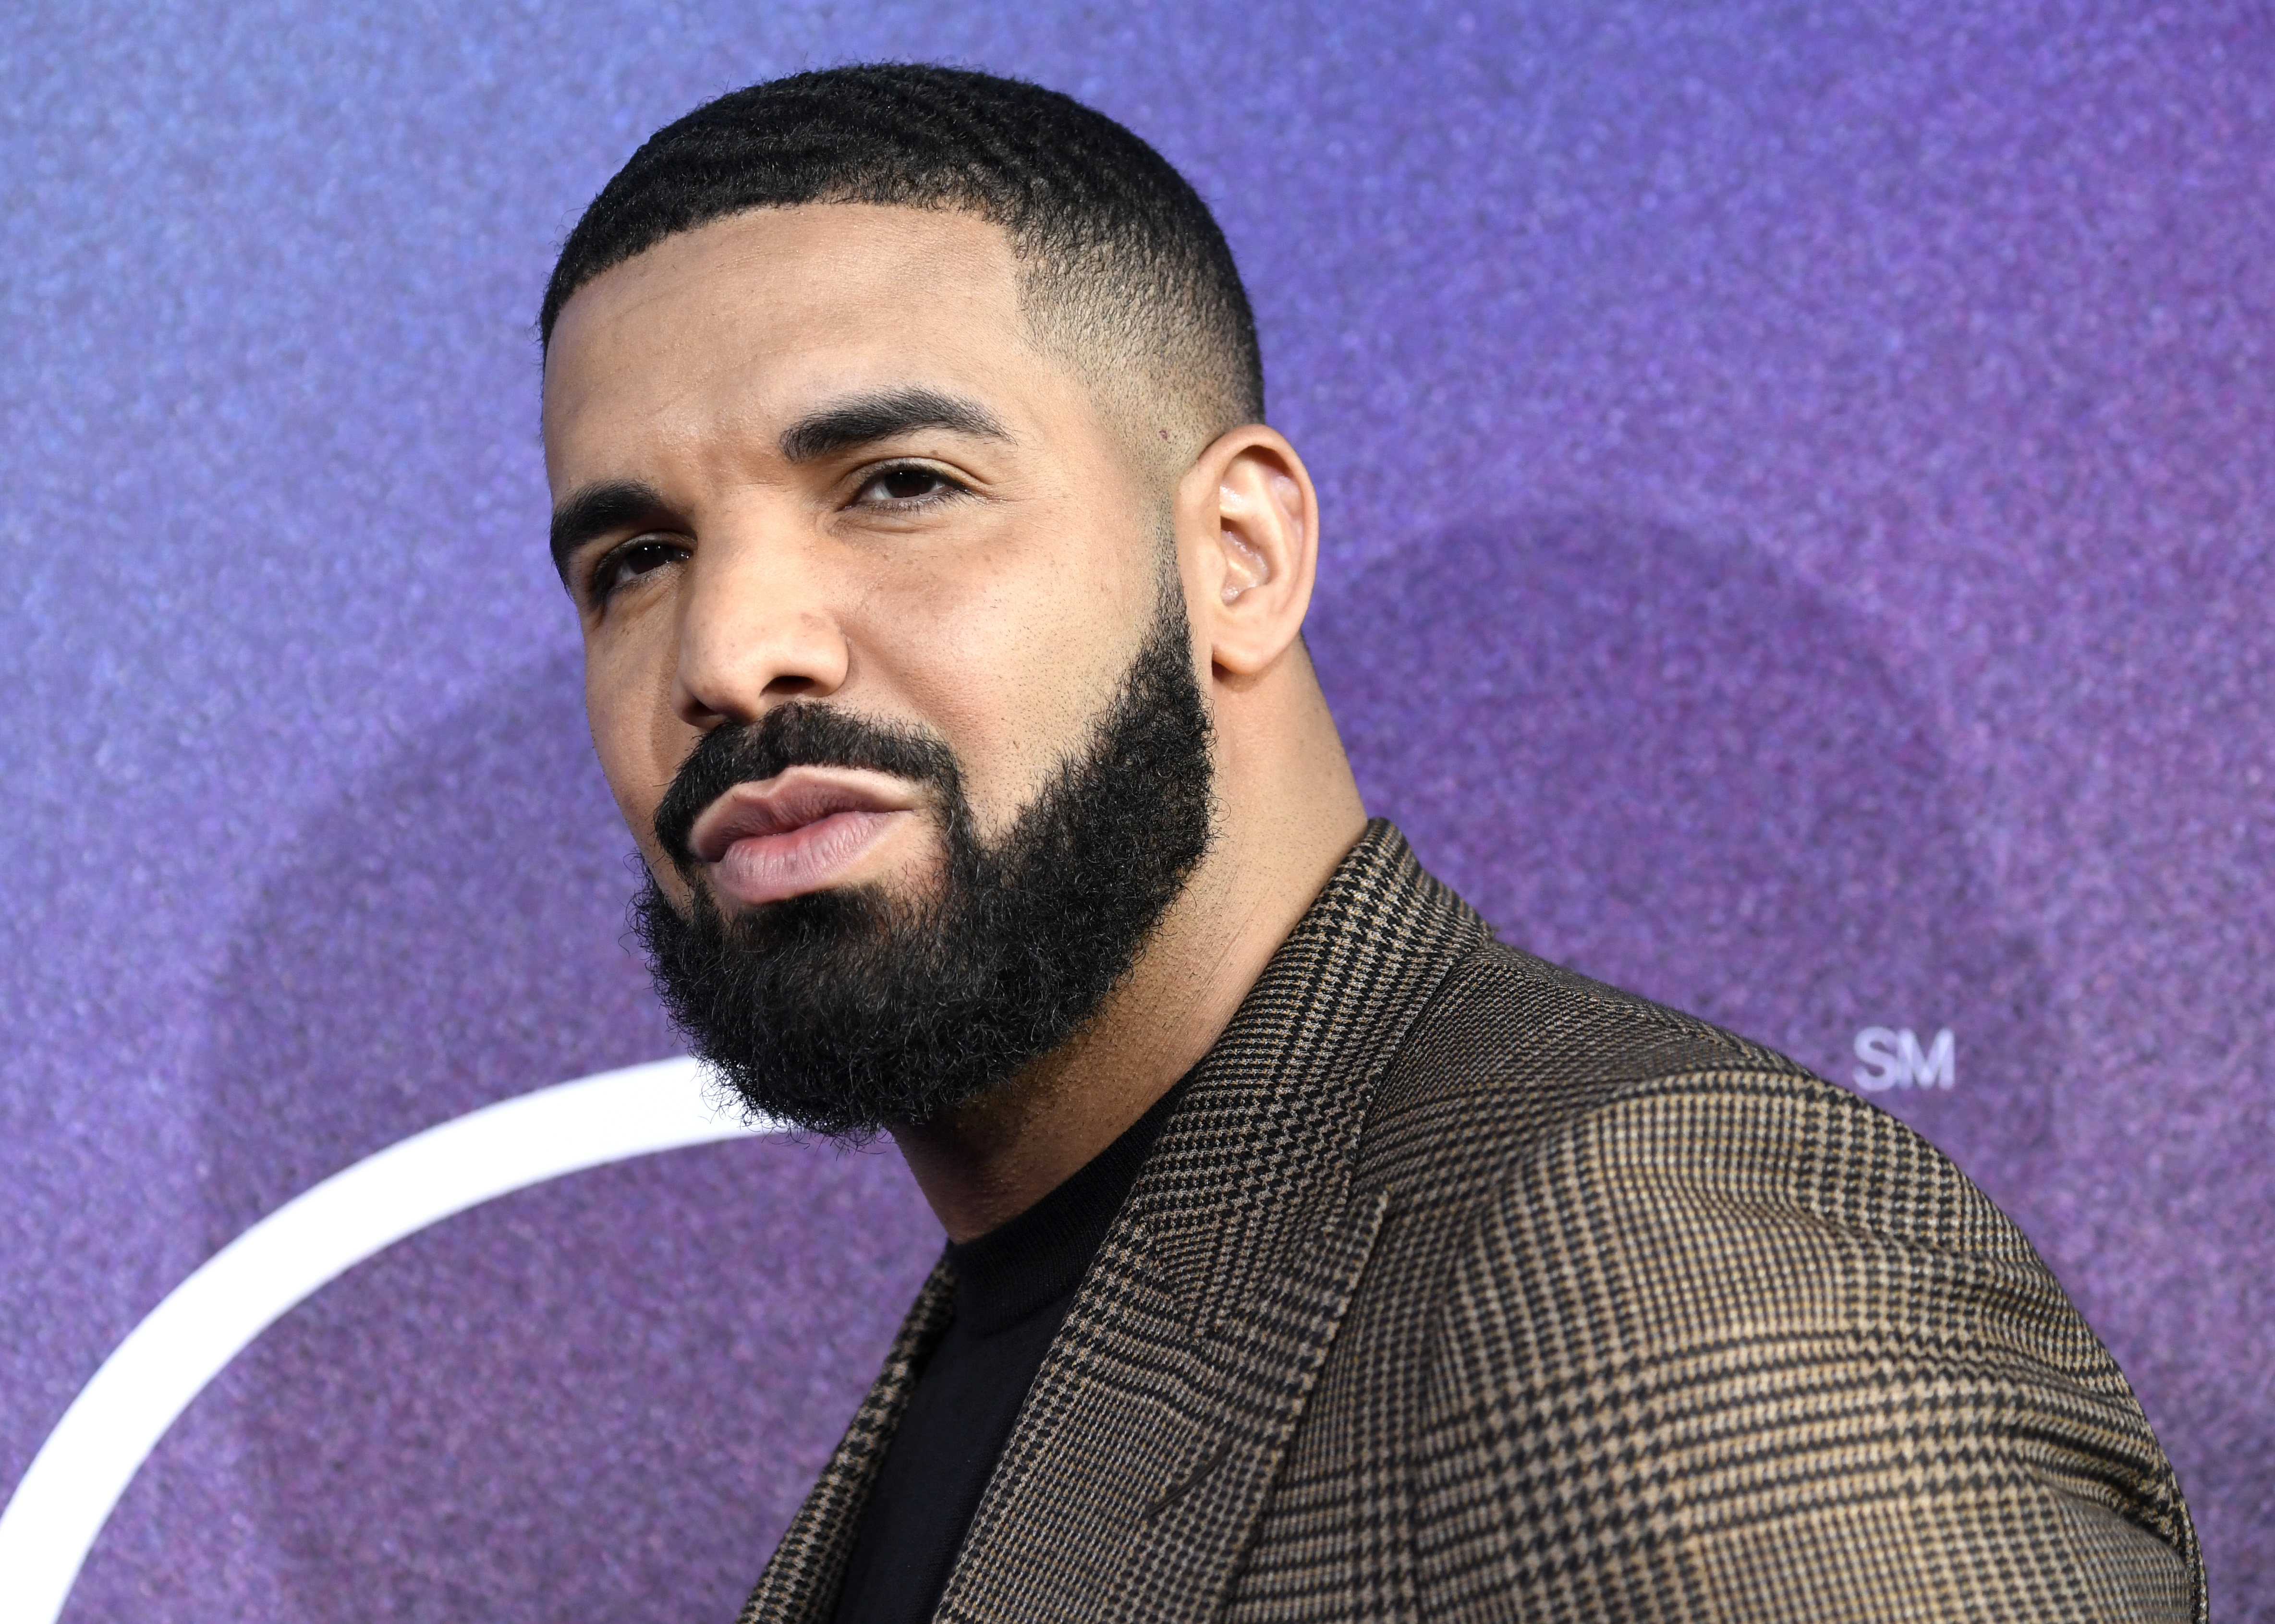
[[2204,1617],[1956,1169],[1365,821],[1310,475],[1151,148],[942,68],[739,91],[541,332],[657,985],[949,1235],[746,1619]]

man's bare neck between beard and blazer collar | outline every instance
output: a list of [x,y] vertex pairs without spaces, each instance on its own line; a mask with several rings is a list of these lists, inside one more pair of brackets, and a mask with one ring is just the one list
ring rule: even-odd
[[[1324,723],[1333,739],[1324,703],[1304,721]],[[1340,746],[1299,748],[1306,728],[1276,739],[1258,732],[1263,748],[1242,751],[1251,739],[1219,714],[1219,805],[1228,810],[1185,894],[1097,1014],[1006,1085],[892,1130],[949,1240],[1026,1212],[1167,1094],[1215,1046],[1358,839],[1365,812]],[[1238,794],[1251,776],[1272,794]]]

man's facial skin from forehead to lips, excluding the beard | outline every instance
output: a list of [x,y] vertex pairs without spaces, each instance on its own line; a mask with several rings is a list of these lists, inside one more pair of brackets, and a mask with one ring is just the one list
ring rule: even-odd
[[653,817],[721,721],[817,698],[919,726],[999,837],[1112,696],[1151,623],[1160,494],[1021,334],[1001,230],[860,205],[719,221],[569,300],[544,428],[557,509],[603,509],[562,537],[585,698],[673,901],[921,887],[942,860],[908,785],[814,771],[805,794],[864,803],[828,851],[682,876]]

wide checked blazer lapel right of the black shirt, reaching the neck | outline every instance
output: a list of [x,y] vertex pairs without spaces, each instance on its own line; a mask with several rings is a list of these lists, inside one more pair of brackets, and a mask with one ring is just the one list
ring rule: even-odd
[[1222,1606],[1388,1208],[1351,1180],[1374,1078],[1488,935],[1370,823],[1147,1158],[935,1617]]

